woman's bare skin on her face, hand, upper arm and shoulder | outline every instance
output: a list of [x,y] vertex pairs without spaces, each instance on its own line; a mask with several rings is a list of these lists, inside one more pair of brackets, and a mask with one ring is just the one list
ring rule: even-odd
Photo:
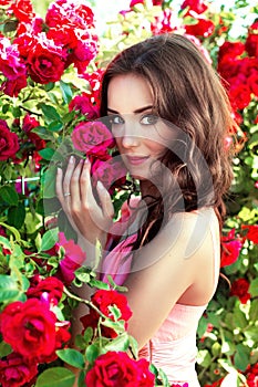
[[[143,77],[127,74],[112,79],[107,103],[112,132],[125,165],[140,178],[143,195],[149,190],[155,192],[148,180],[149,167],[154,165],[152,174],[155,175],[154,161],[166,150],[161,138],[169,143],[175,133],[163,123],[154,125],[153,96]],[[68,191],[71,196],[64,197]],[[94,245],[97,238],[104,244],[106,231],[103,229],[112,223],[113,205],[109,192],[101,185],[97,192],[101,207],[92,195],[89,164],[75,166],[71,161],[64,176],[59,171],[58,198],[83,248],[86,248],[85,241]],[[172,242],[175,230],[179,232]],[[133,311],[128,333],[137,339],[140,348],[155,334],[175,303],[205,305],[210,300],[218,280],[215,272],[219,269],[215,268],[210,230],[219,251],[219,227],[213,209],[179,213],[136,253],[124,285],[128,289],[126,296]],[[190,248],[187,259],[186,247]]]

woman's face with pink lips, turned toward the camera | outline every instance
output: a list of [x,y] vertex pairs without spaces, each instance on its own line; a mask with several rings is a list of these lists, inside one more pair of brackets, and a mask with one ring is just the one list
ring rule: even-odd
[[[112,133],[131,175],[148,179],[175,134],[154,112],[147,81],[135,74],[113,77],[107,90]],[[158,163],[157,163],[158,164]]]

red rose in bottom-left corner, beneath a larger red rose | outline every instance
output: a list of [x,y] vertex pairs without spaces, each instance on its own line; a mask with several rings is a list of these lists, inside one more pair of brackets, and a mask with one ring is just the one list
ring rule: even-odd
[[12,353],[4,360],[0,359],[0,385],[2,387],[24,386],[37,374],[37,364],[29,363],[20,354]]

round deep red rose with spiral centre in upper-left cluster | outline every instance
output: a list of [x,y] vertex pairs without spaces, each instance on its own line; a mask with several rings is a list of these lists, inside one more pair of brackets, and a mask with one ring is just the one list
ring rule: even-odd
[[28,73],[32,81],[47,84],[61,79],[66,53],[43,34],[34,42],[27,59]]

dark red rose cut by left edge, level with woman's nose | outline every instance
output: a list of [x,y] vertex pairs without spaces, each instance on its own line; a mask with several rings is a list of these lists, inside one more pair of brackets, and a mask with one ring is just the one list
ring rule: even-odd
[[18,135],[10,132],[6,121],[0,119],[0,161],[14,156],[18,150]]

